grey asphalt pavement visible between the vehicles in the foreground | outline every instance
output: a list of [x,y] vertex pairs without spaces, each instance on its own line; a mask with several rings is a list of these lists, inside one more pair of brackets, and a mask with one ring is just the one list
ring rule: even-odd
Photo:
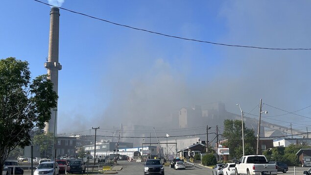
[[[144,165],[142,162],[128,162],[126,160],[118,161],[117,166],[122,166],[122,170],[118,171],[118,175],[143,175],[144,174]],[[296,167],[296,174],[294,174],[294,167],[289,167],[288,172],[285,175],[303,175],[304,171],[307,171],[308,167]],[[95,173],[89,173],[98,174]],[[169,166],[165,166],[165,174],[166,175],[212,175],[212,169],[208,167],[201,166],[199,164],[195,164],[195,167],[187,168],[186,170],[174,170],[173,168],[169,168]],[[278,175],[282,175],[284,173],[279,172]],[[28,170],[24,171],[24,175],[31,175],[31,172]],[[77,174],[78,175],[78,174]]]

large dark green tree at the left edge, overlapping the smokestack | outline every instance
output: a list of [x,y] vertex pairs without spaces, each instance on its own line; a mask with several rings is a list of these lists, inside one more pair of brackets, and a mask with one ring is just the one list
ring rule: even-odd
[[26,61],[0,60],[0,175],[9,153],[30,145],[32,128],[49,121],[57,99],[48,75],[31,79]]

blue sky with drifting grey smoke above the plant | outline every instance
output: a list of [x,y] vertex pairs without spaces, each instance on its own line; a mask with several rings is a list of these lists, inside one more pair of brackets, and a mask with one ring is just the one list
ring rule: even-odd
[[[48,1],[113,23],[183,38],[263,48],[311,48],[309,0]],[[0,59],[47,74],[50,6],[2,0]],[[228,112],[306,130],[311,50],[228,47],[171,38],[60,9],[58,133],[161,125],[181,107],[221,101]],[[199,126],[204,126],[203,124]],[[311,130],[311,129],[310,129]]]

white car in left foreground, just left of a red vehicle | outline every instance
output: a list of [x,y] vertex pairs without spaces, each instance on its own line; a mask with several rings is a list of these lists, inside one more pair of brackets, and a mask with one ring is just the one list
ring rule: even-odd
[[54,161],[42,162],[34,171],[34,175],[59,175],[59,166]]

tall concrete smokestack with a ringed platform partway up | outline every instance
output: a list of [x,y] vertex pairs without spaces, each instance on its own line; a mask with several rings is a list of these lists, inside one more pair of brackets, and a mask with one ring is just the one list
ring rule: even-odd
[[[53,90],[58,94],[58,71],[62,70],[62,65],[58,62],[58,37],[59,37],[59,8],[52,7],[49,13],[49,45],[48,45],[48,62],[44,67],[48,70],[48,78],[54,84]],[[51,109],[51,119],[46,123],[44,129],[47,132],[57,134],[57,107]]]

